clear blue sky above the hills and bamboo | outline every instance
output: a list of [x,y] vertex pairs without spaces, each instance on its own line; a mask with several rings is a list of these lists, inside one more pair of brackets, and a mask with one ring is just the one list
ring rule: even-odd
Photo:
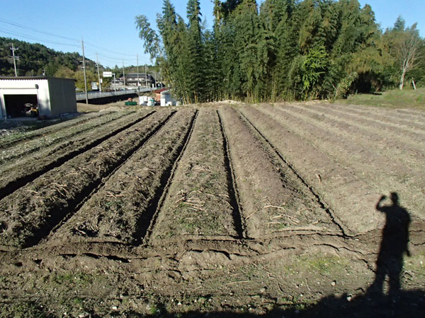
[[[418,23],[425,36],[424,0],[359,0],[370,4],[381,28],[391,27],[401,15],[407,25]],[[135,16],[143,14],[155,26],[162,1],[152,0],[15,0],[1,1],[0,36],[38,42],[62,52],[80,52],[81,37],[86,57],[103,66],[149,64],[135,28]],[[186,17],[187,0],[171,0],[176,11]],[[261,2],[261,0],[257,0]],[[203,20],[212,25],[212,1],[200,0]],[[22,28],[24,27],[24,28]],[[36,32],[40,31],[40,32]],[[19,54],[19,51],[17,51]]]

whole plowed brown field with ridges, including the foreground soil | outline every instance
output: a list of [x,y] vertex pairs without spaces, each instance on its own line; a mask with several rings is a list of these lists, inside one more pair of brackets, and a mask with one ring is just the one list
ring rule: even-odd
[[421,317],[424,120],[146,107],[8,135],[0,316]]

